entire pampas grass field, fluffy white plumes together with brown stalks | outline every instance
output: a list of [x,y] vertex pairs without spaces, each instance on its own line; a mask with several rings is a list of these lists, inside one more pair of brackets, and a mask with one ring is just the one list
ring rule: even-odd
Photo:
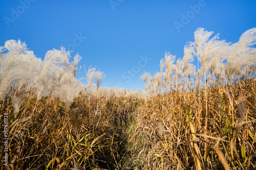
[[6,41],[0,128],[7,113],[10,168],[255,169],[255,28],[233,44],[212,33],[199,28],[176,64],[165,53],[160,72],[140,77],[144,91],[101,87],[105,75],[91,66],[83,85],[78,54],[70,62],[60,47],[42,61]]

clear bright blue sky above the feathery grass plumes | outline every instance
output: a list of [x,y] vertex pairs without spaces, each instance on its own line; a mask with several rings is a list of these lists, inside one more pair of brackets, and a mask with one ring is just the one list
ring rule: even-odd
[[0,0],[0,46],[20,39],[44,59],[62,44],[82,57],[77,78],[85,77],[83,65],[97,66],[106,75],[102,86],[144,89],[143,71],[160,71],[165,51],[182,58],[200,27],[237,42],[256,27],[256,1]]

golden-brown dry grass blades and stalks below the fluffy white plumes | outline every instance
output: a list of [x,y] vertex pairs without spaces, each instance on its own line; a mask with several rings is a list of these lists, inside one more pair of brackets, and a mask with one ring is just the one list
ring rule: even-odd
[[69,110],[28,92],[18,113],[11,98],[0,103],[1,132],[9,115],[11,169],[256,168],[255,78],[208,87],[207,117],[204,91],[196,89],[147,102],[80,97]]

